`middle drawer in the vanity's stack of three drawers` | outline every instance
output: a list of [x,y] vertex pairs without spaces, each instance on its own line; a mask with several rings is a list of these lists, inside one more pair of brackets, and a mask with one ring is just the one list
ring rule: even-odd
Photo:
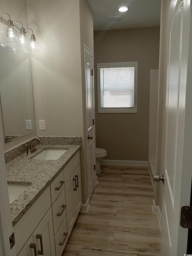
[[55,200],[52,205],[53,213],[53,227],[54,234],[57,233],[58,228],[60,227],[65,215],[66,215],[66,203],[65,203],[65,189],[61,191],[60,195]]

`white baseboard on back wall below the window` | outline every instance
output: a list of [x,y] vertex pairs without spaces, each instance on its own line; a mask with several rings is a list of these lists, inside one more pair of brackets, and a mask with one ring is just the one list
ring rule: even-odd
[[129,160],[105,160],[99,161],[103,165],[126,165],[126,166],[148,166],[148,161],[129,161]]

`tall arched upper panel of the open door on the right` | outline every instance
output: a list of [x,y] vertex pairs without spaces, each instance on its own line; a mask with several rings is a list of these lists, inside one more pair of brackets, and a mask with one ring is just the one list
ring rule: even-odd
[[[173,23],[170,31],[170,63],[168,64],[168,92],[167,92],[167,179],[170,182],[170,193],[174,198],[175,174],[176,174],[176,149],[177,149],[177,122],[179,113],[179,80],[180,80],[180,47],[182,37],[181,24],[183,21],[183,2],[179,10],[173,15]],[[175,17],[174,17],[175,16]]]

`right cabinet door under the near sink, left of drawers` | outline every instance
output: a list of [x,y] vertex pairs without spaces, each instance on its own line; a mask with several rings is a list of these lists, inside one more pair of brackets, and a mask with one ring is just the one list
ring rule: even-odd
[[33,232],[37,253],[46,256],[55,256],[55,243],[53,233],[53,219],[51,208]]

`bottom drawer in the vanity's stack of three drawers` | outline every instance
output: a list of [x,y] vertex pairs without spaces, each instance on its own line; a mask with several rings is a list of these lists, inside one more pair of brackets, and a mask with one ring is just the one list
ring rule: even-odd
[[55,236],[55,251],[56,256],[61,256],[64,247],[67,243],[68,233],[67,233],[67,216],[65,216],[56,236]]

